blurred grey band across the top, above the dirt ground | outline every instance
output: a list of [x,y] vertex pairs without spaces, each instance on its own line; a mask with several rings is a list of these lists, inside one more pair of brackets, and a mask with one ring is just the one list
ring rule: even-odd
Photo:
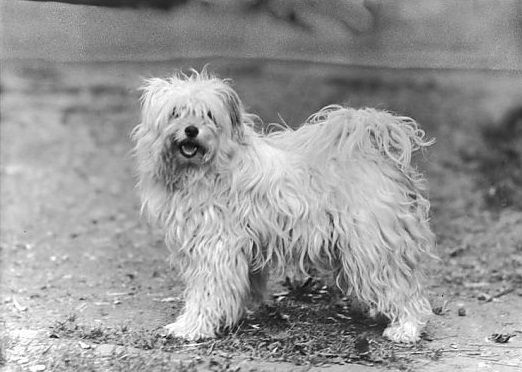
[[518,0],[2,1],[2,57],[513,70],[521,64],[521,7]]

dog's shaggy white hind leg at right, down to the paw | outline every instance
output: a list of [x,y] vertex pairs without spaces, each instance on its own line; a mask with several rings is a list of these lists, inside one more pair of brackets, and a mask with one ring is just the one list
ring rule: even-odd
[[[390,319],[385,337],[416,342],[430,312],[422,288],[421,250],[400,231],[379,231],[375,228],[378,224],[361,221],[353,224],[352,236],[339,249],[337,283],[359,302]],[[386,244],[376,239],[379,235],[386,235]]]

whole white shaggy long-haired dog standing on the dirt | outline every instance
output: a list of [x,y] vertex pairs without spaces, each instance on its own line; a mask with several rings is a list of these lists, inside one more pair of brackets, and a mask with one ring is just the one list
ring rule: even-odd
[[143,209],[165,228],[187,285],[169,334],[215,337],[262,300],[269,269],[333,275],[415,342],[430,305],[419,266],[434,236],[428,146],[407,117],[328,106],[297,130],[253,130],[227,81],[206,71],[146,82],[134,132]]

